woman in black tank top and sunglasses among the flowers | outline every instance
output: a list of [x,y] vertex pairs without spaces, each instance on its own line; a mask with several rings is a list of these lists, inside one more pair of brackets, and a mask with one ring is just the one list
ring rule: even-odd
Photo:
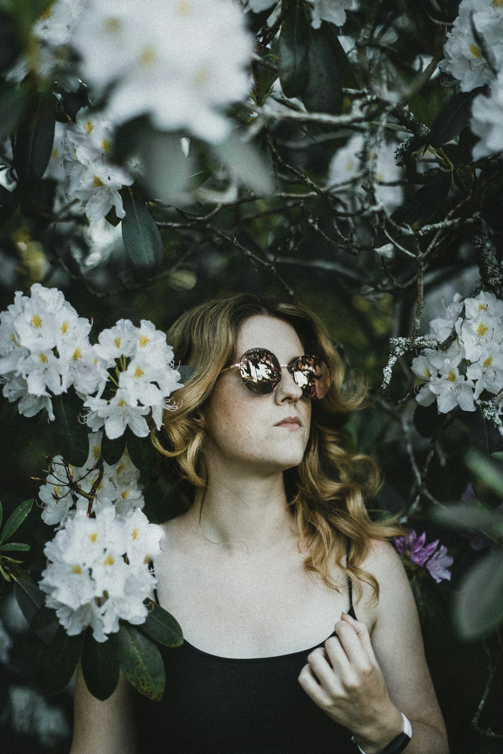
[[155,562],[185,642],[164,651],[159,703],[124,679],[99,702],[78,676],[71,754],[446,754],[413,595],[386,542],[397,530],[363,505],[373,461],[343,449],[363,390],[342,391],[321,323],[244,294],[186,312],[167,339],[196,367],[156,440],[191,495]]

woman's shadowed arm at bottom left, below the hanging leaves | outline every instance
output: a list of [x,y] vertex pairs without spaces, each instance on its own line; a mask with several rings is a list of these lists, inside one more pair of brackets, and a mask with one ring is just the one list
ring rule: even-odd
[[70,754],[135,754],[128,683],[122,673],[111,697],[100,701],[84,682],[80,664],[75,681],[75,717]]

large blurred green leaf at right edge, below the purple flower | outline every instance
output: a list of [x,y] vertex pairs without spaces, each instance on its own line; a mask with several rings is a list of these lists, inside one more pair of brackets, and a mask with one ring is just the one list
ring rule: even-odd
[[454,617],[460,636],[480,639],[503,623],[503,548],[483,556],[462,579]]

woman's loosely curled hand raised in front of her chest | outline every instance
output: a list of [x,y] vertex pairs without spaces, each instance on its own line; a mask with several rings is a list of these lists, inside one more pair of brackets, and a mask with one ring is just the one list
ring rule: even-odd
[[299,683],[368,754],[382,751],[402,731],[402,716],[389,697],[367,626],[342,613],[335,630],[325,648],[308,655]]

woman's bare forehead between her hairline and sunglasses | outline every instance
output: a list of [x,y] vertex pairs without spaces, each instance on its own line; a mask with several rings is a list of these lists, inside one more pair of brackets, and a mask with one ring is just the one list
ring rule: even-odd
[[241,357],[249,348],[268,348],[281,363],[289,363],[303,353],[302,343],[293,326],[267,314],[256,314],[241,324],[236,341],[237,357]]

